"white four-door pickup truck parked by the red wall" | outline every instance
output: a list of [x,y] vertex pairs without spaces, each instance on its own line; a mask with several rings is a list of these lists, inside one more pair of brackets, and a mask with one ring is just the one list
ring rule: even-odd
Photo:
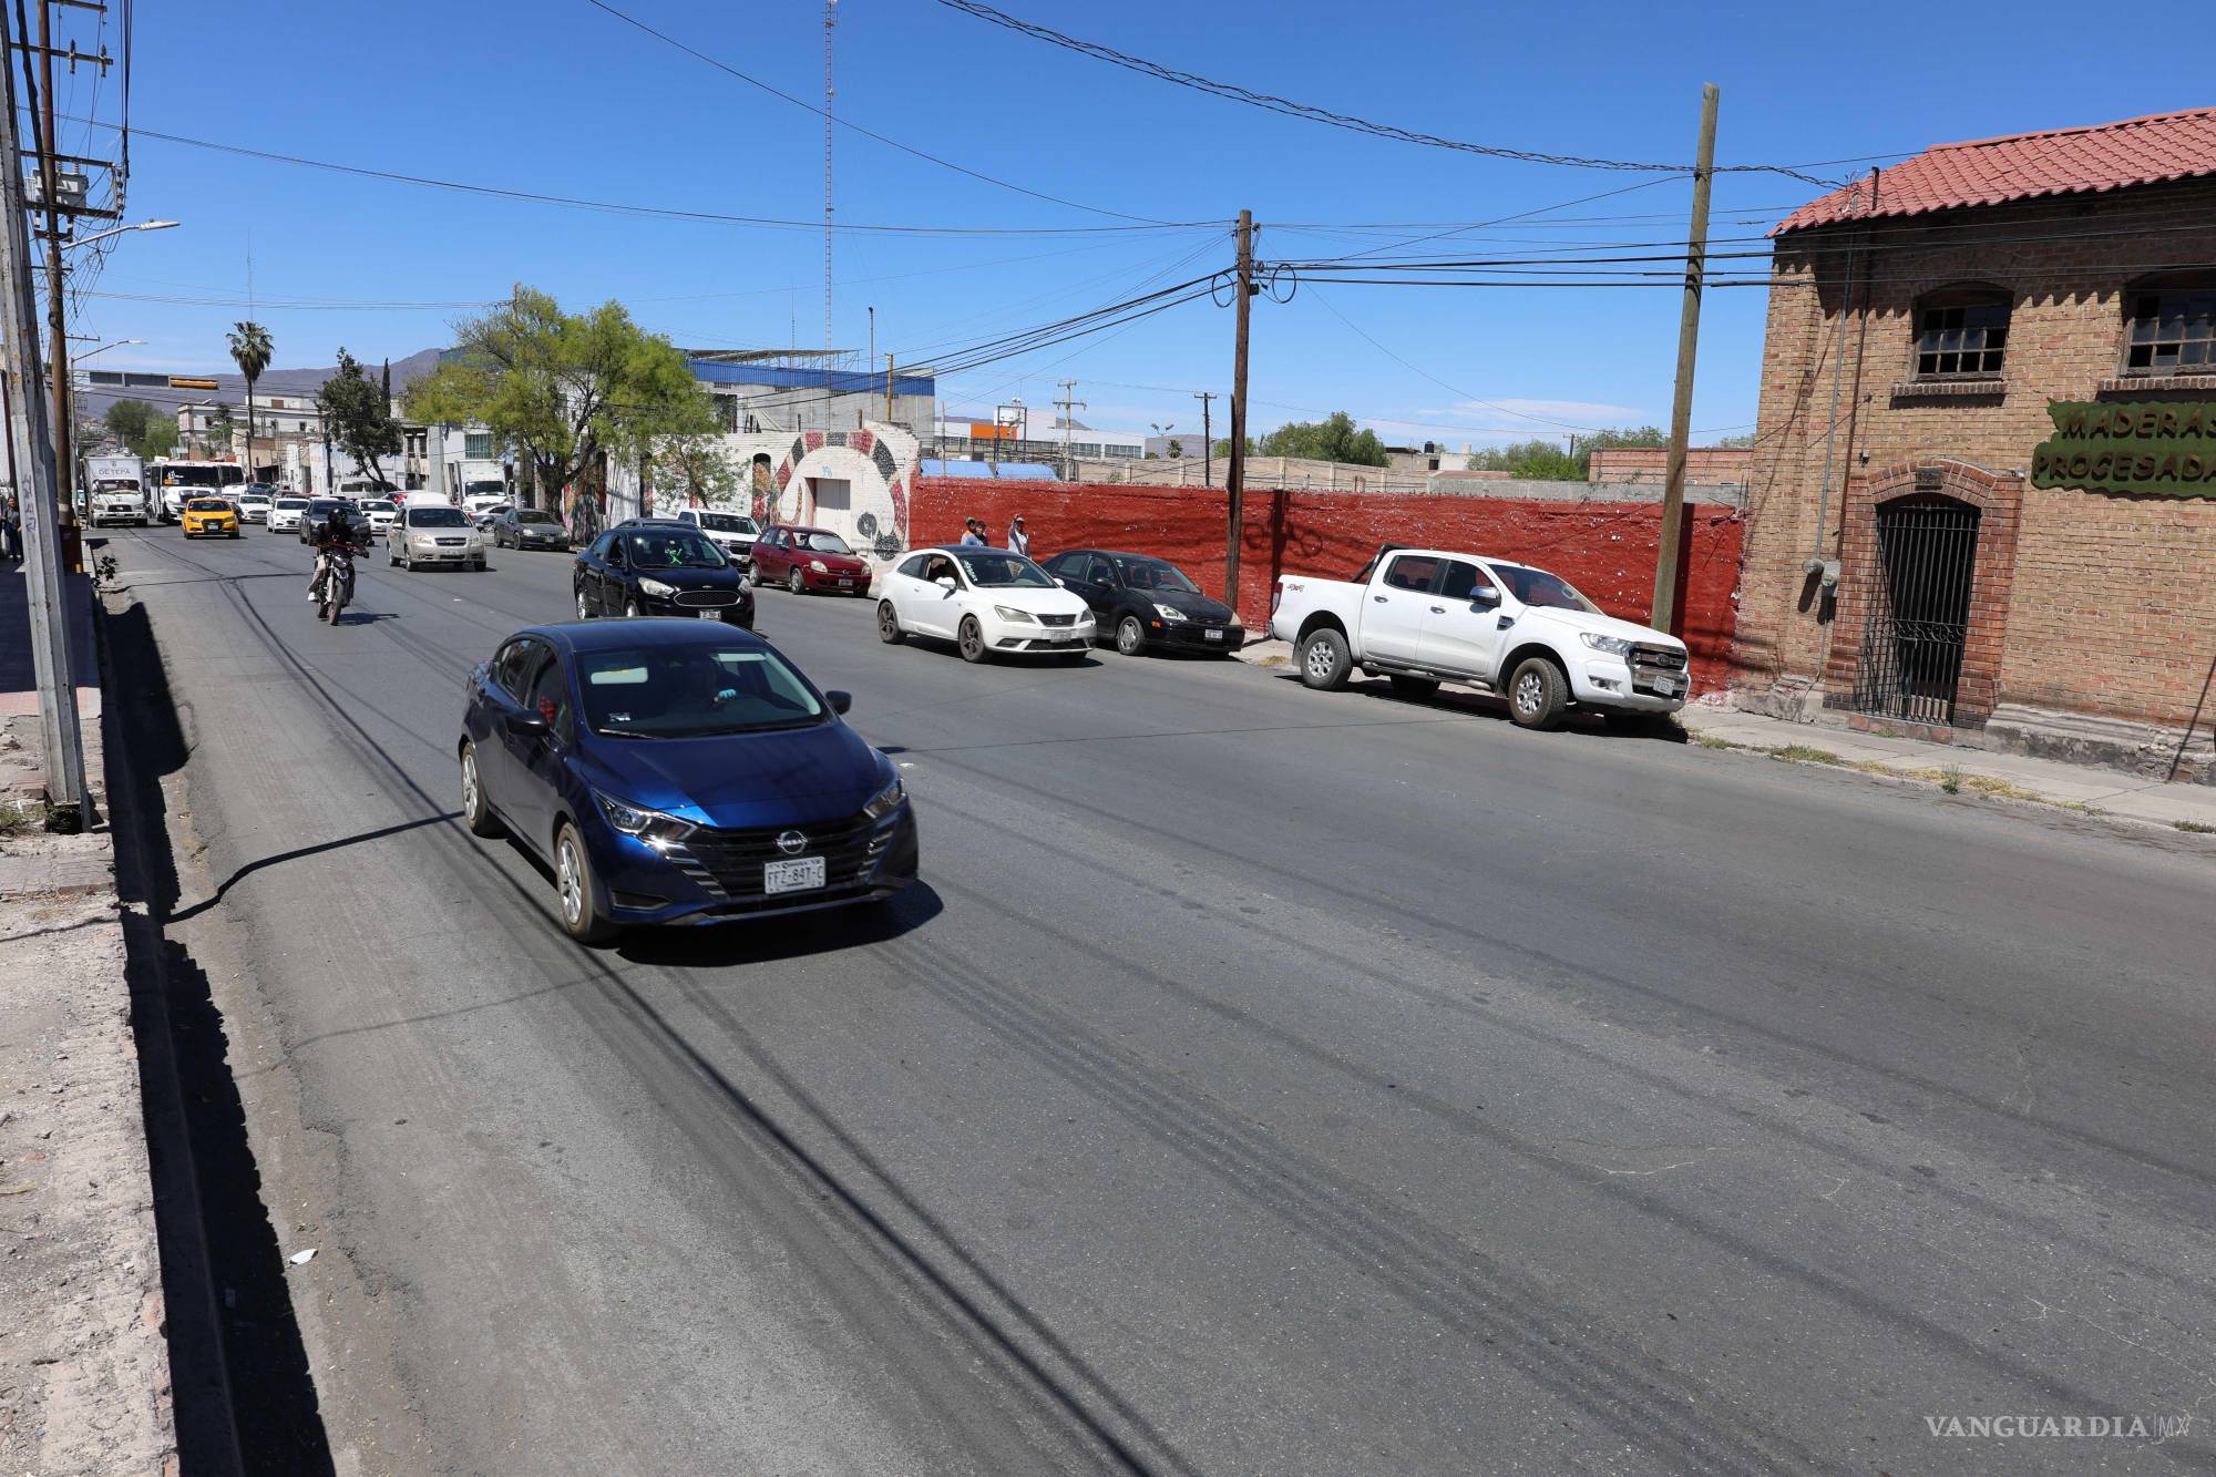
[[1352,581],[1283,574],[1270,634],[1294,643],[1310,687],[1341,687],[1354,668],[1405,696],[1469,683],[1507,696],[1522,727],[1558,727],[1571,707],[1651,725],[1691,692],[1684,641],[1485,554],[1387,543]]

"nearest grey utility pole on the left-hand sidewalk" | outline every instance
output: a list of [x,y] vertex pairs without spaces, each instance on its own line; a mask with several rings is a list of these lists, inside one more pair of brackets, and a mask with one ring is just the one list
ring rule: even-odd
[[[40,4],[40,18],[44,18]],[[78,676],[69,659],[69,601],[62,588],[62,530],[55,497],[55,457],[38,412],[38,308],[31,295],[29,211],[22,197],[22,157],[16,144],[16,38],[0,7],[0,339],[9,381],[9,448],[16,495],[22,503],[22,554],[31,597],[31,668],[38,679],[40,738],[47,745],[47,827],[84,825],[84,736],[78,730]],[[49,98],[51,64],[49,64]],[[40,157],[47,204],[53,204],[53,155]],[[49,346],[58,381],[66,388],[69,339]],[[64,401],[66,404],[66,401]]]

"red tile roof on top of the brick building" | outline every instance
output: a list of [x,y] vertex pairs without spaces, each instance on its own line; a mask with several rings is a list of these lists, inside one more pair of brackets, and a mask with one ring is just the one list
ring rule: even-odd
[[1875,211],[1868,208],[1870,184],[1859,180],[1793,211],[1771,235],[1841,220],[1923,215],[2196,175],[2216,175],[2216,109],[1937,144],[1881,171]]

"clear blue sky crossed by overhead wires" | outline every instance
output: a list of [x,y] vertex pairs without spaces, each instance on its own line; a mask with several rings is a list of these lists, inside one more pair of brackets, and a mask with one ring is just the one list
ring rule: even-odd
[[[822,9],[804,0],[612,0],[807,100],[822,91]],[[1722,86],[1720,164],[1810,164],[2216,102],[2192,67],[2081,64],[2083,7],[1675,7],[1578,2],[1365,7],[1166,0],[1002,9],[1188,71],[1456,140],[1549,153],[1691,160],[1700,84]],[[2167,18],[2165,18],[2167,13]],[[60,11],[91,42],[93,18]],[[2205,11],[2138,7],[2132,35],[2192,33]],[[523,191],[725,215],[820,220],[822,120],[594,9],[587,0],[144,4],[133,124],[275,153]],[[1480,222],[1469,251],[1682,237],[1682,177],[1533,166],[1276,118],[986,27],[931,0],[842,0],[835,113],[1048,204],[840,129],[838,220],[977,231],[1199,222],[1250,206],[1263,259],[1423,235],[1381,222]],[[113,44],[113,38],[111,38]],[[2076,62],[2072,58],[2079,58]],[[113,86],[113,84],[111,84]],[[93,106],[89,80],[64,111]],[[100,98],[113,115],[115,93]],[[64,149],[84,129],[64,126]],[[1888,160],[1879,160],[1888,162]],[[822,233],[481,200],[235,157],[140,135],[131,217],[75,333],[146,339],[102,368],[211,368],[244,317],[279,366],[443,344],[456,304],[512,282],[570,306],[620,299],[685,346],[822,346]],[[1866,164],[1822,164],[1844,175]],[[1602,191],[1629,193],[1564,204]],[[1760,237],[1817,191],[1724,175],[1713,235]],[[1558,206],[1558,208],[1549,208]],[[1611,217],[1611,220],[1598,220]],[[1627,220],[1633,217],[1633,220]],[[1744,248],[1744,244],[1740,246]],[[1230,262],[1221,226],[1088,235],[840,233],[835,339],[880,355],[1084,313]],[[133,295],[133,297],[100,297]],[[208,304],[137,297],[219,299]],[[239,306],[230,306],[237,299]],[[288,306],[286,299],[293,299]],[[1764,293],[1715,291],[1693,426],[1755,415]],[[1356,328],[1350,326],[1358,326]],[[1254,313],[1254,426],[1345,408],[1387,441],[1489,444],[1562,426],[1662,424],[1673,291],[1443,291],[1307,282]],[[1361,335],[1369,335],[1367,339]],[[1374,339],[1374,344],[1369,342]],[[882,361],[882,359],[880,359]],[[942,381],[948,410],[1075,377],[1092,424],[1197,430],[1188,390],[1225,390],[1232,315],[1208,302]],[[1217,401],[1217,435],[1223,401]]]

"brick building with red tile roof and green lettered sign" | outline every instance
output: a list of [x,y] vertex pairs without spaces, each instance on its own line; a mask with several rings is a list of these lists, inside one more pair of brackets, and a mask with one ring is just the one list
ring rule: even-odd
[[1773,235],[1735,701],[2216,783],[2216,109]]

